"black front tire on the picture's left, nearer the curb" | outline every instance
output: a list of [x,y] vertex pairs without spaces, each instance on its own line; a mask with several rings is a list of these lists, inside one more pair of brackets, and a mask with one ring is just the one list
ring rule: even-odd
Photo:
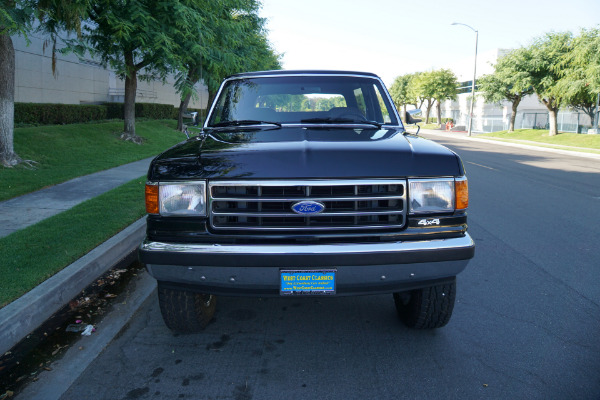
[[159,282],[158,304],[169,329],[193,333],[209,324],[215,314],[217,298],[210,294],[167,288]]

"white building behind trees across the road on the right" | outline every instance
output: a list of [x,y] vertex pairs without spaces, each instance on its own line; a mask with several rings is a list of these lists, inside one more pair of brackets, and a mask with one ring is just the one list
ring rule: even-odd
[[[494,72],[493,65],[499,57],[510,49],[496,49],[477,55],[477,79]],[[442,103],[442,118],[452,118],[456,126],[468,126],[469,108],[471,106],[471,85],[473,82],[473,58],[449,62],[445,68],[452,70],[462,88],[456,101]],[[475,81],[477,93],[477,80]],[[473,132],[495,132],[508,129],[512,114],[512,104],[508,101],[502,104],[485,103],[482,96],[476,96],[473,106]],[[548,124],[548,109],[538,100],[537,95],[526,96],[521,100],[517,109],[515,129],[541,128]],[[571,110],[561,110],[558,113],[558,130],[563,132],[587,132],[591,126],[589,116]]]

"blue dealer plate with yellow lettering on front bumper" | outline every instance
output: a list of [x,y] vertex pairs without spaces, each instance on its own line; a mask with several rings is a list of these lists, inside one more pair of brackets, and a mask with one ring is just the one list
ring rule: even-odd
[[335,294],[335,269],[280,270],[282,296]]

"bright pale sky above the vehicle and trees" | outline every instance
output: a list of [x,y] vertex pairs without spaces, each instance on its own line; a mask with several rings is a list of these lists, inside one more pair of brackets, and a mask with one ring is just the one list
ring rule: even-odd
[[263,0],[261,16],[285,69],[369,71],[389,86],[397,75],[473,64],[475,33],[452,22],[479,31],[479,69],[494,49],[597,27],[600,0]]

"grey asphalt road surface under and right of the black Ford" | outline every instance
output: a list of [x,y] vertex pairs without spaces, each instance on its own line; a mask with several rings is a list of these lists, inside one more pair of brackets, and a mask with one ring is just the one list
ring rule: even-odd
[[220,298],[173,336],[151,296],[63,399],[599,399],[600,160],[443,140],[476,256],[442,329],[391,295]]

